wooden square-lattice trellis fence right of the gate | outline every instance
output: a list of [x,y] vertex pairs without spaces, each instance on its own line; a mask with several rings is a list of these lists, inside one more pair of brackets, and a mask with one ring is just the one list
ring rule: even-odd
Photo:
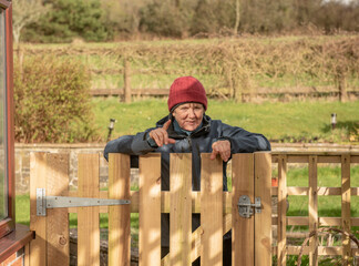
[[[278,196],[278,215],[273,217],[273,225],[277,225],[277,246],[273,254],[278,257],[278,265],[286,265],[287,255],[309,255],[309,265],[318,265],[318,256],[342,256],[341,265],[352,265],[349,257],[359,256],[358,246],[349,241],[352,226],[359,226],[359,217],[351,217],[350,202],[359,196],[359,187],[352,187],[350,181],[358,181],[359,176],[350,176],[350,165],[359,164],[359,153],[350,152],[288,152],[273,153],[273,163],[278,167],[278,187],[273,187],[273,195]],[[287,186],[287,172],[291,164],[306,164],[308,167],[308,186]],[[341,186],[324,187],[318,185],[318,165],[339,164],[341,167]],[[306,176],[304,176],[306,178]],[[287,216],[286,198],[288,195],[308,196],[308,216]],[[318,214],[319,196],[341,196],[340,217],[320,217]],[[290,202],[289,202],[290,204]],[[308,226],[312,232],[308,246],[287,245],[287,226]],[[341,228],[342,245],[319,246],[319,227]],[[309,232],[306,237],[309,238]]]

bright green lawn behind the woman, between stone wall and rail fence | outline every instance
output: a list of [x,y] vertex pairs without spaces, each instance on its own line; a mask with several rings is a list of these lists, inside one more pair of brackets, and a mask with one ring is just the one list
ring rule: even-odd
[[[115,119],[112,137],[135,134],[155,126],[168,114],[166,100],[139,100],[130,104],[117,98],[94,99],[95,125],[105,140],[110,119]],[[214,120],[263,133],[270,141],[359,143],[359,101],[236,103],[209,100],[206,112]],[[337,113],[337,127],[331,131],[330,115]]]

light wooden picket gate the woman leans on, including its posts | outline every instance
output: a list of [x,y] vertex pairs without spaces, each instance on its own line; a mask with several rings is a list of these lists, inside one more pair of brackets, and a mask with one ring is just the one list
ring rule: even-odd
[[[109,265],[131,265],[131,213],[139,213],[140,265],[219,266],[223,235],[232,229],[233,265],[271,265],[270,153],[234,154],[232,192],[223,192],[222,161],[202,154],[202,191],[192,191],[191,154],[171,154],[168,192],[161,191],[161,156],[140,157],[139,191],[130,190],[130,156],[110,154],[109,190],[100,191],[99,154],[80,154],[78,191],[69,191],[69,156],[31,154],[31,265],[69,265],[69,213],[78,213],[78,265],[100,265],[99,214],[109,213]],[[52,208],[37,214],[37,188],[47,195],[130,200],[131,205]],[[238,201],[260,197],[260,213],[239,216]],[[161,213],[170,213],[170,254],[161,259]],[[201,226],[192,232],[192,213]]]

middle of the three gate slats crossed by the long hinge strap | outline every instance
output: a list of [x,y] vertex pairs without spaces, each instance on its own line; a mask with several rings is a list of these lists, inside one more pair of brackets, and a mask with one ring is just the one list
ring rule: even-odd
[[[79,196],[100,197],[99,154],[79,154]],[[100,265],[100,207],[78,208],[78,264]]]

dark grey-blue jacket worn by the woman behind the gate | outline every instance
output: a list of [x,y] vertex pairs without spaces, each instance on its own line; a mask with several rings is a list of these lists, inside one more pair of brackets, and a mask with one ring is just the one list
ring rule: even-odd
[[[156,127],[173,117],[163,117],[156,123]],[[256,151],[270,151],[268,140],[256,133],[250,133],[237,126],[230,126],[222,123],[220,120],[211,120],[204,115],[202,127],[191,135],[178,134],[174,131],[173,123],[168,127],[168,136],[176,140],[175,144],[163,145],[162,147],[151,146],[148,143],[148,129],[136,135],[124,135],[107,143],[104,150],[104,157],[109,158],[109,153],[125,153],[131,156],[132,167],[139,166],[137,155],[148,152],[161,153],[161,181],[162,190],[170,190],[170,153],[192,153],[192,186],[193,191],[201,191],[201,153],[212,153],[212,144],[219,140],[228,140],[230,142],[230,152],[233,153],[253,153]],[[223,187],[227,191],[227,163],[223,163]],[[162,217],[162,246],[168,246],[168,215],[163,214]],[[199,216],[194,215],[192,221],[193,229],[199,226]]]

